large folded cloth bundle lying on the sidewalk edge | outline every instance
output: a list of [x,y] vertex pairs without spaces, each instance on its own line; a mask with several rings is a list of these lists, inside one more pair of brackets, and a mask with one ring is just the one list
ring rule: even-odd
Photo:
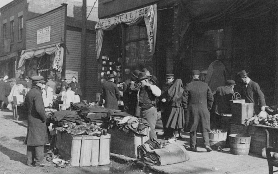
[[155,139],[149,139],[137,147],[138,162],[148,165],[164,166],[188,161],[190,159],[185,147],[179,143],[158,143]]

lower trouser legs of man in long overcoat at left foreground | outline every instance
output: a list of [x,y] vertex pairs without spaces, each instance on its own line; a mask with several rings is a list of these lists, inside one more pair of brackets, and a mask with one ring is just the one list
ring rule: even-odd
[[27,146],[27,165],[40,165],[44,160],[43,146]]

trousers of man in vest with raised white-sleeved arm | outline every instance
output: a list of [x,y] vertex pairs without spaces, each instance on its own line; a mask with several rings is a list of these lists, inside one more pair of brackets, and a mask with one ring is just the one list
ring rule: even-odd
[[155,130],[155,124],[157,120],[157,108],[151,107],[147,110],[140,110],[140,117],[147,120],[147,122],[150,125],[150,139],[154,138],[157,139],[156,136],[156,130]]

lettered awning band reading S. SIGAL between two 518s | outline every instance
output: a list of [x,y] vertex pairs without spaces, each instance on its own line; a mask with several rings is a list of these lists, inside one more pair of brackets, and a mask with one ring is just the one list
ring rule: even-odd
[[147,6],[144,8],[140,8],[137,10],[133,10],[127,13],[123,13],[111,18],[99,19],[99,22],[95,25],[96,29],[99,28],[109,28],[112,25],[117,25],[119,23],[125,23],[134,21],[135,19],[145,17],[150,13],[150,9],[152,6]]

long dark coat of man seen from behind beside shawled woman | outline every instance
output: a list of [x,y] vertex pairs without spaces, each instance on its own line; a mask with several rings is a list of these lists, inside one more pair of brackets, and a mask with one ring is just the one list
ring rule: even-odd
[[210,131],[209,111],[213,105],[213,94],[208,85],[202,81],[194,80],[184,89],[184,108],[186,131],[195,132],[201,122],[202,132]]

